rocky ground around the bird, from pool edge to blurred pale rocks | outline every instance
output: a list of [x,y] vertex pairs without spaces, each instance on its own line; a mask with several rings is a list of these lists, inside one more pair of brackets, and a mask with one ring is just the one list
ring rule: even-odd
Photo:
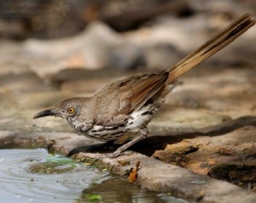
[[191,201],[255,202],[256,26],[183,76],[149,124],[150,136],[117,159],[85,153],[84,146],[99,143],[66,121],[32,120],[62,99],[172,67],[228,21],[214,14],[163,17],[121,34],[95,22],[74,37],[2,40],[0,147],[46,147],[119,175],[140,161],[137,183],[148,189]]

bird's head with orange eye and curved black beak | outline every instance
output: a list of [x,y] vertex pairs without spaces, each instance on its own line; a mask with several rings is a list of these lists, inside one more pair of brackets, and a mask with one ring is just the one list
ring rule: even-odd
[[83,101],[86,98],[72,98],[66,99],[58,104],[55,108],[40,111],[33,116],[33,119],[41,118],[44,116],[56,116],[61,118],[73,118],[79,115],[80,110],[83,108]]

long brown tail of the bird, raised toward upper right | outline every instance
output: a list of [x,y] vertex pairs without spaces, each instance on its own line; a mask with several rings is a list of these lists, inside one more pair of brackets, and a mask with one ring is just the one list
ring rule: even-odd
[[242,15],[238,20],[234,21],[228,27],[221,31],[215,37],[212,37],[208,42],[205,42],[200,48],[197,48],[193,53],[186,56],[170,70],[167,83],[172,83],[177,77],[182,76],[195,65],[200,64],[205,59],[208,59],[212,54],[217,53],[220,49],[226,47],[230,42],[233,42],[236,37],[241,36],[255,24],[256,20],[252,19],[250,14]]

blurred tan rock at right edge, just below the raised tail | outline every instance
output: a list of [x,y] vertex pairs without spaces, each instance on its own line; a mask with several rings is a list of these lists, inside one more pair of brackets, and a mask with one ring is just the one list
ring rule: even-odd
[[[217,70],[218,69],[218,70]],[[207,109],[213,114],[220,113],[235,119],[253,115],[255,90],[255,70],[227,69],[226,66],[205,66],[183,76],[166,103],[189,109]],[[189,79],[190,78],[190,79]],[[172,108],[172,107],[170,107]]]

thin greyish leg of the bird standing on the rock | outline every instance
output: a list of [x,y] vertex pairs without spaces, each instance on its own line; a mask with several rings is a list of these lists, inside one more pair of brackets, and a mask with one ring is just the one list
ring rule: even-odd
[[136,144],[137,142],[143,140],[144,138],[147,138],[148,136],[148,128],[144,127],[140,130],[141,135],[137,138],[132,139],[130,142],[120,146],[118,149],[116,149],[111,155],[109,155],[110,158],[118,157],[125,149],[131,147],[131,145]]

